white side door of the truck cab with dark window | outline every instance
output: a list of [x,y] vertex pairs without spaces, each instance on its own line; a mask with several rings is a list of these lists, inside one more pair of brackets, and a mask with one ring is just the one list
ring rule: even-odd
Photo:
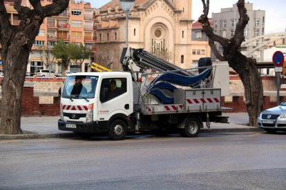
[[130,115],[132,88],[127,87],[127,78],[109,77],[102,78],[98,101],[98,120],[109,120],[115,114]]

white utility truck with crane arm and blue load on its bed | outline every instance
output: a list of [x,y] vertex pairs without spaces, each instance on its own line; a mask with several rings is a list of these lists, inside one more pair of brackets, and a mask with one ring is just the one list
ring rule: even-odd
[[194,74],[133,48],[124,48],[120,63],[123,72],[68,74],[61,93],[60,130],[108,134],[113,140],[122,140],[128,132],[170,129],[195,137],[204,122],[208,128],[210,122],[227,123],[221,90],[213,87],[216,66],[200,67]]

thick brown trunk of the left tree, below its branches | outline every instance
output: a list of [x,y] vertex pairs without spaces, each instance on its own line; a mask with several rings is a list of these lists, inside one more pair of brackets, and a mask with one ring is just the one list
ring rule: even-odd
[[[19,36],[15,34],[12,41],[2,47],[2,57],[6,58],[6,65],[3,70],[6,72],[2,86],[1,98],[1,127],[0,134],[22,134],[21,131],[21,96],[23,92],[23,83],[28,64],[29,50],[19,43]],[[6,48],[13,51],[6,53]]]

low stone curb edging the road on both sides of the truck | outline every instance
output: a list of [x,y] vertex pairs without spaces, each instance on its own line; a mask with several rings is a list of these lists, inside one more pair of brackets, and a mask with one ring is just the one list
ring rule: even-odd
[[[233,128],[233,129],[201,129],[200,133],[235,133],[235,132],[261,132],[264,129],[260,128]],[[30,133],[25,131],[26,133]],[[40,138],[73,138],[78,137],[74,133],[59,133],[59,134],[19,134],[19,135],[0,135],[0,140],[17,140],[17,139],[40,139]]]

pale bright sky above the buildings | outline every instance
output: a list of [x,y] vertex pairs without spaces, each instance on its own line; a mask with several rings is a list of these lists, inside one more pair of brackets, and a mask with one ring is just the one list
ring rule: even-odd
[[[100,8],[111,0],[85,0],[93,8]],[[286,1],[285,0],[251,0],[254,10],[265,10],[265,34],[285,32],[286,30]],[[235,0],[209,0],[209,17],[212,12],[220,12],[221,8],[231,8]],[[197,20],[202,14],[202,1],[193,0],[192,19]]]

